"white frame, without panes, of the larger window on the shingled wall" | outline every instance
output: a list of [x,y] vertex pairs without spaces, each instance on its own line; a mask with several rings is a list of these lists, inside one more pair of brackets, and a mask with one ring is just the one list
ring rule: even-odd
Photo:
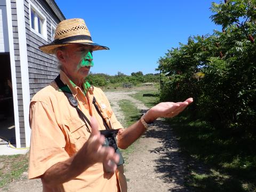
[[[31,18],[31,11],[32,10],[35,13],[35,19],[34,19],[34,28],[35,29],[32,28],[32,18]],[[38,28],[38,18],[39,18],[40,21],[43,20],[42,27],[40,27],[40,29],[42,31],[42,34],[39,33],[39,31],[38,31],[38,29],[39,29]],[[29,1],[29,24],[30,24],[30,31],[32,31],[37,36],[43,38],[45,41],[48,41],[48,39],[47,39],[47,25],[46,25],[46,23],[47,23],[47,21],[46,21],[45,15],[41,11],[39,11],[38,8],[31,1]]]

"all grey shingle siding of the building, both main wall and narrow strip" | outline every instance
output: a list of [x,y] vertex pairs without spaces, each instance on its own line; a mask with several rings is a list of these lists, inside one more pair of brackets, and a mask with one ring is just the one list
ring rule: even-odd
[[[30,0],[39,11],[46,17],[47,41],[30,30],[29,22],[29,0],[11,0],[12,14],[12,29],[13,29],[13,46],[14,46],[14,61],[15,75],[17,81],[17,97],[18,97],[18,112],[19,112],[19,128],[20,128],[20,144],[21,147],[26,146],[25,137],[25,121],[23,111],[22,98],[22,81],[21,81],[21,66],[20,66],[20,49],[18,36],[18,21],[17,21],[17,1],[24,1],[25,11],[25,27],[26,27],[26,42],[28,55],[28,73],[29,73],[29,90],[30,99],[33,95],[48,85],[59,73],[58,62],[54,55],[48,55],[41,52],[38,46],[51,42],[51,25],[57,26],[60,19],[57,15],[62,15],[61,12],[55,14],[52,12],[45,0]],[[51,1],[51,0],[50,0]],[[54,2],[55,3],[55,2]],[[56,8],[54,8],[56,9]],[[58,7],[57,7],[58,10]],[[16,135],[18,137],[18,135]]]

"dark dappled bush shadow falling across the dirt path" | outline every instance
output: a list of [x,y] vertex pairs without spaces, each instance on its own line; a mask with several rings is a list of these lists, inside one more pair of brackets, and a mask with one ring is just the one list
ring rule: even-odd
[[163,147],[155,148],[150,153],[159,154],[159,158],[156,159],[157,166],[155,171],[162,173],[165,182],[173,182],[182,188],[168,189],[168,191],[189,191],[185,186],[184,179],[188,172],[186,171],[186,164],[184,156],[179,151],[177,139],[174,137],[170,125],[164,123],[163,119],[159,119],[154,124],[154,129],[149,129],[143,137],[157,138],[162,143]]

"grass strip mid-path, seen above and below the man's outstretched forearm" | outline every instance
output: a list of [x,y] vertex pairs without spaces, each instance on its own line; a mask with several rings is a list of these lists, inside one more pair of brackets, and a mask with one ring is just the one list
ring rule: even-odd
[[[138,119],[140,118],[140,111],[133,105],[133,103],[130,100],[126,100],[126,99],[120,100],[118,105],[121,107],[121,110],[124,113],[125,127],[129,127],[130,125],[138,121]],[[139,142],[139,140],[135,142]],[[133,145],[134,143],[131,146],[129,146],[127,149],[124,149],[124,150],[121,149],[121,152],[125,161],[127,159],[127,156],[133,152],[134,150]]]

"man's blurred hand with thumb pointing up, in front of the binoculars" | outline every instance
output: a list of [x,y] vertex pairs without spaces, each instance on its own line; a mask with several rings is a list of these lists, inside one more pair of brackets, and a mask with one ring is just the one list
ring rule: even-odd
[[112,147],[102,146],[105,137],[98,130],[97,120],[92,117],[90,122],[92,127],[91,135],[82,149],[86,154],[85,158],[89,159],[91,165],[102,162],[106,172],[115,172],[116,164],[119,162],[119,155],[115,153]]

